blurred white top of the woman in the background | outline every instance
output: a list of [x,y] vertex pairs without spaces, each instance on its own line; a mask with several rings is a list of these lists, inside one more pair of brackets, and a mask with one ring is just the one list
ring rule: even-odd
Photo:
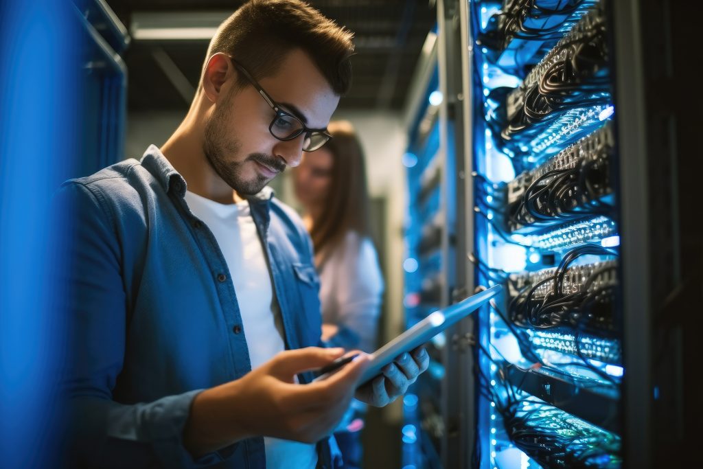
[[326,256],[319,275],[323,322],[348,328],[359,337],[354,347],[373,352],[383,276],[371,240],[349,231]]

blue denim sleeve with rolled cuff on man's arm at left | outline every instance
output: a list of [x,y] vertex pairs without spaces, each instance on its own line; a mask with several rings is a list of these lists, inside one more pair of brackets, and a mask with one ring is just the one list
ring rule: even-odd
[[65,371],[72,421],[71,457],[97,468],[197,468],[231,451],[195,460],[183,446],[183,429],[200,390],[151,402],[122,404],[113,391],[127,341],[127,300],[117,239],[101,194],[68,182],[55,195],[65,214],[69,265],[57,274],[67,289],[72,359]]

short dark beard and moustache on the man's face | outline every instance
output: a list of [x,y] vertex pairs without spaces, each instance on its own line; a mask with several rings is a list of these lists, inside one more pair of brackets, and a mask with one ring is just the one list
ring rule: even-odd
[[202,143],[202,151],[209,165],[214,169],[220,178],[237,193],[243,195],[254,195],[259,193],[269,178],[262,174],[256,174],[253,179],[245,179],[242,176],[243,165],[247,162],[259,162],[261,165],[269,167],[275,171],[283,172],[285,163],[280,158],[264,153],[250,153],[247,158],[241,161],[228,160],[226,155],[238,155],[241,145],[227,129],[227,123],[232,113],[231,96],[225,106],[215,108],[210,118],[205,122],[205,141]]

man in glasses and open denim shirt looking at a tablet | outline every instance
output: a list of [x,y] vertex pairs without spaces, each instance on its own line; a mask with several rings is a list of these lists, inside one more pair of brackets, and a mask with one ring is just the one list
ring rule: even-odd
[[[311,347],[311,243],[266,183],[328,139],[351,37],[297,0],[245,4],[212,39],[191,109],[161,149],[62,186],[83,465],[339,462],[327,435],[368,358],[310,383],[344,351]],[[400,356],[356,397],[387,404],[428,360],[424,349]]]

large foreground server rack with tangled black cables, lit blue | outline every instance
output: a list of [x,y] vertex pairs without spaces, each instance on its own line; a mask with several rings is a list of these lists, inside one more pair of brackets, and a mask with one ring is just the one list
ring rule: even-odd
[[[683,11],[629,0],[438,2],[441,181],[454,210],[442,300],[494,283],[507,293],[444,338],[446,373],[432,394],[441,441],[431,458],[406,463],[690,460],[664,448],[685,448],[696,421],[683,412],[696,392],[683,373],[692,362],[683,324],[685,309],[700,309],[699,264],[687,256],[699,261],[701,240],[681,218],[695,204],[678,182],[700,163],[681,172],[677,142],[691,141],[691,121],[656,96],[663,82],[684,86],[683,51],[695,53],[677,39],[676,25],[692,23]],[[408,169],[411,205],[417,181]],[[422,224],[410,217],[410,257]],[[411,298],[423,278],[408,274]],[[671,310],[666,321],[657,304],[659,316]],[[418,432],[428,428],[414,418]],[[666,445],[652,444],[657,428]]]

